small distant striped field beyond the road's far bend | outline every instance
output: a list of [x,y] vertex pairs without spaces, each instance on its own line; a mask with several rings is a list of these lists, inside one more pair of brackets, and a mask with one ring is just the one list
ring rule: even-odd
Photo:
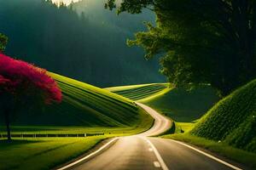
[[164,89],[169,88],[169,83],[153,83],[153,84],[142,84],[142,85],[131,85],[106,88],[107,90],[124,96],[125,98],[132,100],[142,100],[150,98],[156,94],[159,94]]

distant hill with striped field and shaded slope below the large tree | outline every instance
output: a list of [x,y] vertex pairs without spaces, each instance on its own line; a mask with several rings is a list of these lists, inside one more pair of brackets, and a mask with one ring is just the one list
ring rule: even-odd
[[107,88],[153,107],[177,122],[192,122],[200,118],[218,101],[218,95],[208,85],[197,88],[175,88],[169,83],[154,83]]

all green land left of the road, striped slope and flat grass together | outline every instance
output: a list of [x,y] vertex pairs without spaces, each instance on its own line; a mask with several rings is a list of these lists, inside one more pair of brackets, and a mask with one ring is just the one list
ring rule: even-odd
[[[71,78],[54,73],[49,75],[55,78],[62,90],[61,104],[51,105],[42,111],[24,108],[11,123],[12,133],[104,135],[14,139],[11,143],[0,139],[0,169],[50,169],[83,154],[102,139],[141,133],[154,122],[130,99]],[[0,122],[0,133],[5,133],[2,118]]]

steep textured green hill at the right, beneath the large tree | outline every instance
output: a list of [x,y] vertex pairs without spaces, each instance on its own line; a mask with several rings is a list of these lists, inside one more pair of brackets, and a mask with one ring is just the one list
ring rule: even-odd
[[190,133],[256,153],[256,80],[214,105]]

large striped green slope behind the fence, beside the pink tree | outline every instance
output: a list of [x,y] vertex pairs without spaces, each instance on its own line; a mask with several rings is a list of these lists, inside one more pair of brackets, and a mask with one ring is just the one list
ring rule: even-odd
[[130,99],[71,78],[54,73],[49,75],[62,90],[62,103],[43,111],[27,111],[24,108],[12,125],[131,127],[142,121],[142,117],[146,121],[151,119]]

